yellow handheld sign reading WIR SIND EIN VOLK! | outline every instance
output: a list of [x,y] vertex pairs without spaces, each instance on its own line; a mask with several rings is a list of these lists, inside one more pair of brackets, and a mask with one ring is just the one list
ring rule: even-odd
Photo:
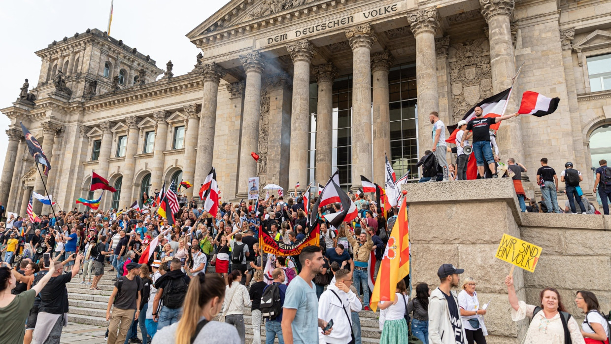
[[503,234],[495,257],[534,273],[540,255],[541,247]]

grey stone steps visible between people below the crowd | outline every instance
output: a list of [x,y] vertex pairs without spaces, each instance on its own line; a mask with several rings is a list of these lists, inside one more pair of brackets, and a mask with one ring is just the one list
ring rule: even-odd
[[[114,282],[112,279],[115,274],[104,271],[104,276],[98,282],[100,290],[89,290],[90,285],[79,284],[82,280],[81,274],[75,276],[66,285],[68,288],[68,303],[70,309],[68,311],[68,321],[88,324],[95,326],[108,327],[106,321],[106,306],[108,306],[108,298],[112,293]],[[371,311],[362,310],[359,312],[360,329],[362,343],[379,343],[381,331],[378,327],[378,315]],[[246,343],[252,343],[252,319],[251,309],[244,309],[244,323],[246,324]],[[138,329],[139,331],[139,329]],[[265,325],[261,326],[262,341],[265,342]],[[278,343],[278,339],[275,341]]]

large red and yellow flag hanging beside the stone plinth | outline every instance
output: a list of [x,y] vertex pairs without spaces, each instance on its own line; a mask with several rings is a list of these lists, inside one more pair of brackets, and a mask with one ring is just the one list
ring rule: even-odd
[[371,295],[371,310],[378,309],[379,301],[395,301],[397,283],[409,274],[409,226],[408,211],[405,197],[397,221],[392,227],[388,238],[386,251],[378,271],[373,294]]

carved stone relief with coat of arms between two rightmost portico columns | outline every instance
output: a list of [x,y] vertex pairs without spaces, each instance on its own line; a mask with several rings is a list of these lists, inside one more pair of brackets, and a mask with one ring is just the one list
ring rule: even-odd
[[[486,37],[452,45],[450,82],[454,122],[479,101],[492,95],[490,54],[483,46]],[[453,52],[453,54],[452,54]]]

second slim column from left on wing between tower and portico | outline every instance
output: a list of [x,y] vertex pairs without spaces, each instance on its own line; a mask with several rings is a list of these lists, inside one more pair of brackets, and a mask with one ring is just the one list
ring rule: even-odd
[[125,119],[129,129],[127,134],[127,146],[125,148],[125,162],[121,168],[123,174],[121,196],[119,198],[119,208],[121,209],[125,206],[129,207],[133,202],[134,172],[136,169],[134,155],[136,155],[138,150],[138,123],[141,121],[142,117],[139,116],[128,116]]

